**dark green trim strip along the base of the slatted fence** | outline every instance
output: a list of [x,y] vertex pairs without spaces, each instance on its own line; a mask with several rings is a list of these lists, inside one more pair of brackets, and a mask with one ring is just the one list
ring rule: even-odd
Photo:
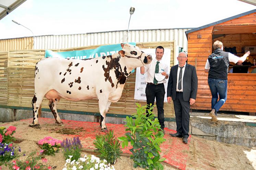
[[[0,108],[6,108],[6,109],[21,109],[21,110],[32,110],[32,107],[17,107],[17,106],[6,106],[6,105],[0,105]],[[51,112],[50,109],[42,108],[42,111],[44,112]],[[82,115],[93,115],[93,116],[100,116],[100,113],[98,112],[83,112],[83,111],[74,111],[74,110],[60,110],[58,109],[59,113],[71,113],[71,114],[82,114]],[[131,115],[124,115],[124,114],[113,114],[108,113],[107,117],[120,117],[120,118],[126,118],[126,116],[131,117]],[[167,117],[164,118],[167,122],[175,122],[175,117]]]

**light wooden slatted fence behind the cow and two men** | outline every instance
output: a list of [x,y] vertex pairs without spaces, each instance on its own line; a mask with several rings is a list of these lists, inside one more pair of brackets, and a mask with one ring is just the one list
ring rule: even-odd
[[[137,43],[139,48],[156,48],[162,45],[171,49],[171,64],[174,62],[174,41]],[[52,51],[72,51],[83,49],[94,49],[98,46],[87,46],[69,49],[54,49]],[[0,105],[32,107],[31,101],[34,96],[35,64],[44,58],[45,50],[21,50],[0,52]],[[123,89],[122,97],[117,103],[112,103],[108,113],[130,115],[136,112],[136,104],[146,105],[145,101],[134,100],[136,70],[132,73]],[[42,108],[49,108],[49,101],[44,99]],[[99,113],[98,99],[84,101],[68,101],[61,99],[58,109],[74,110]],[[157,109],[154,113],[157,115]],[[165,117],[173,117],[173,104],[164,103]]]

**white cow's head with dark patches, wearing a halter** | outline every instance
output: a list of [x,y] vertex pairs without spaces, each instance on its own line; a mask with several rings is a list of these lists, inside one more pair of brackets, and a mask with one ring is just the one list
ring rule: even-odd
[[142,52],[137,46],[134,46],[128,43],[121,44],[121,46],[123,49],[120,50],[118,53],[122,57],[133,59],[133,64],[135,67],[141,67],[141,66],[147,65],[152,61],[152,56]]

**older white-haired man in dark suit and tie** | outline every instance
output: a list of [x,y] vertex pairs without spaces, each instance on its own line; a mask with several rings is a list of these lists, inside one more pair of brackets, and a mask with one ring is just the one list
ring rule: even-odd
[[183,138],[182,141],[187,143],[190,105],[195,103],[197,93],[197,75],[196,68],[186,63],[186,53],[179,53],[177,59],[179,64],[171,68],[167,87],[167,101],[171,103],[173,100],[177,125],[177,132],[170,135]]

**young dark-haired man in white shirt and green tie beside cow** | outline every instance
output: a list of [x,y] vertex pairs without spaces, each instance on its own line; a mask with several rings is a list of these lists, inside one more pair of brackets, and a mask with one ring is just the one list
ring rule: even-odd
[[[164,133],[164,110],[163,110],[163,101],[164,101],[164,84],[166,82],[165,79],[168,79],[170,66],[167,66],[166,63],[163,62],[162,57],[164,53],[164,48],[162,46],[156,47],[156,58],[151,61],[149,65],[145,65],[141,67],[141,74],[147,73],[146,77],[146,98],[147,105],[154,105],[156,98],[156,106],[157,106],[157,117],[159,120],[159,124],[161,125],[161,129]],[[163,80],[157,81],[155,77],[155,73],[161,73],[161,75],[165,76]],[[149,107],[148,107],[149,109]],[[148,112],[147,112],[148,114]]]

